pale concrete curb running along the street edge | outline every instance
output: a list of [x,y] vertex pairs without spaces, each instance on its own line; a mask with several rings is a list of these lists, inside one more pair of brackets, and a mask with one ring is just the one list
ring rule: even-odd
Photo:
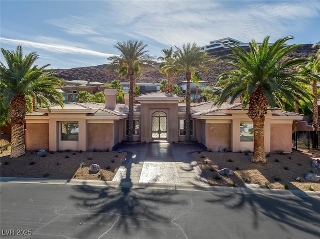
[[258,188],[237,188],[220,186],[196,186],[183,184],[150,184],[150,183],[131,183],[130,181],[100,181],[100,180],[80,180],[80,179],[46,179],[46,178],[16,178],[0,177],[1,183],[26,183],[26,184],[56,184],[56,185],[87,185],[99,187],[120,187],[120,188],[148,188],[164,190],[188,190],[188,191],[209,191],[217,193],[236,193],[236,194],[258,194],[258,195],[277,195],[277,196],[296,196],[320,198],[320,192],[302,190],[281,190],[281,189],[258,189]]

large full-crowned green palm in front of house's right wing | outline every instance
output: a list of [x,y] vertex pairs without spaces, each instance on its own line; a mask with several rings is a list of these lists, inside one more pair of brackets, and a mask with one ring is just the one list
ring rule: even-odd
[[252,40],[249,51],[232,45],[231,55],[218,58],[230,60],[227,63],[237,70],[220,75],[225,85],[215,104],[221,105],[227,99],[233,103],[240,96],[243,99],[242,107],[249,104],[247,115],[253,122],[254,146],[251,161],[254,163],[267,163],[264,152],[264,115],[268,106],[274,108],[276,102],[281,101],[281,97],[278,97],[279,92],[291,102],[301,96],[302,99],[310,98],[300,85],[301,82],[305,83],[305,80],[288,71],[289,67],[305,60],[290,59],[283,62],[283,58],[299,46],[284,46],[289,39],[292,37],[283,37],[269,44],[269,36],[266,36],[260,46]]

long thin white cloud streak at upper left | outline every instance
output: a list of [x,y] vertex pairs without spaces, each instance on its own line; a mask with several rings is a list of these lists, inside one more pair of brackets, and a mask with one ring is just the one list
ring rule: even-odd
[[109,57],[111,55],[114,55],[114,54],[108,54],[108,53],[83,49],[79,47],[66,46],[66,45],[44,44],[44,43],[38,43],[33,41],[27,41],[27,40],[8,39],[4,37],[0,37],[0,40],[6,43],[21,44],[21,45],[31,46],[34,48],[39,48],[42,50],[58,52],[58,53],[93,55],[93,56],[101,56],[101,57]]

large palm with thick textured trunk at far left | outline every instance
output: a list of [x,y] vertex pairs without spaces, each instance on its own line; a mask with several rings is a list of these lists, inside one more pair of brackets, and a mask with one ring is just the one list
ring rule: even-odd
[[23,119],[25,117],[26,98],[34,98],[39,104],[50,109],[50,104],[63,106],[63,96],[55,89],[61,86],[61,80],[51,76],[51,72],[42,67],[32,66],[38,59],[35,52],[23,57],[22,47],[15,51],[1,48],[6,61],[0,66],[1,89],[4,105],[8,106],[8,117],[11,123],[10,158],[24,154]]

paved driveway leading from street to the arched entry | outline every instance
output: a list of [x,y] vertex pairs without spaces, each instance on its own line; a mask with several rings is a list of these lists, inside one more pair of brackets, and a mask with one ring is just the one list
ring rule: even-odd
[[192,157],[203,151],[197,143],[121,143],[116,150],[127,152],[114,182],[208,186]]

